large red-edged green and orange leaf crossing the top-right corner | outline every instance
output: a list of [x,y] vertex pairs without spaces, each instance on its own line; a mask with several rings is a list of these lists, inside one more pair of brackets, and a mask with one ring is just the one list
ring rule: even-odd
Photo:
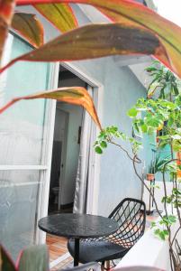
[[114,22],[146,27],[150,32],[158,35],[160,42],[166,48],[167,54],[161,57],[157,55],[158,60],[181,77],[181,28],[175,23],[169,22],[144,5],[131,0],[17,0],[17,5],[52,2],[94,5]]

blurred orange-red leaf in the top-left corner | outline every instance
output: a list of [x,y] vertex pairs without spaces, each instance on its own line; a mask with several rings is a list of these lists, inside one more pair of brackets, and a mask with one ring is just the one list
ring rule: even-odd
[[1,0],[0,2],[0,61],[2,58],[8,27],[12,23],[15,1]]

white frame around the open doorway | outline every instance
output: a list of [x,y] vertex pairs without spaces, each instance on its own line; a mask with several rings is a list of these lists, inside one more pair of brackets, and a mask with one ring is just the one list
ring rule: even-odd
[[[61,62],[61,66],[65,67],[67,70],[71,71],[78,78],[84,80],[89,86],[94,88],[94,101],[95,108],[97,114],[102,119],[103,113],[103,95],[104,95],[104,86],[96,79],[88,76],[85,72],[77,68],[77,66],[73,63]],[[52,71],[51,76],[51,89],[58,88],[59,84],[59,62],[54,65],[54,69]],[[48,123],[49,126],[49,135],[48,135],[48,143],[47,143],[47,171],[45,174],[45,181],[43,185],[42,191],[42,201],[41,201],[41,217],[45,217],[48,214],[49,207],[49,192],[50,192],[50,169],[51,169],[51,157],[52,157],[52,145],[53,145],[53,137],[54,137],[54,126],[55,126],[55,115],[56,115],[56,100],[50,101],[50,110]],[[93,125],[91,129],[91,145],[95,141],[96,135],[98,135],[99,129],[97,126]],[[87,213],[97,214],[98,210],[98,194],[99,194],[99,175],[100,175],[100,155],[96,155],[95,152],[90,152],[89,164],[91,167],[89,168],[89,176],[91,180],[94,182],[90,182],[89,190],[87,194]],[[43,204],[42,204],[43,202]],[[39,231],[39,242],[45,243],[46,234],[43,231]]]

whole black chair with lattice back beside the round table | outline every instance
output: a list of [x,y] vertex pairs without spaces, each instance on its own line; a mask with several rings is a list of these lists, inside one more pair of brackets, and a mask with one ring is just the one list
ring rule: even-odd
[[[143,201],[125,198],[112,211],[119,229],[108,237],[80,240],[79,261],[102,262],[122,258],[144,233],[146,206]],[[74,257],[74,239],[68,240],[68,251]]]

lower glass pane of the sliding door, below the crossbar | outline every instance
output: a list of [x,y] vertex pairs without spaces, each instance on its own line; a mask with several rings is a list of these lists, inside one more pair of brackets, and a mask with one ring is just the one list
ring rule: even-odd
[[41,174],[0,171],[0,240],[14,259],[35,241]]

